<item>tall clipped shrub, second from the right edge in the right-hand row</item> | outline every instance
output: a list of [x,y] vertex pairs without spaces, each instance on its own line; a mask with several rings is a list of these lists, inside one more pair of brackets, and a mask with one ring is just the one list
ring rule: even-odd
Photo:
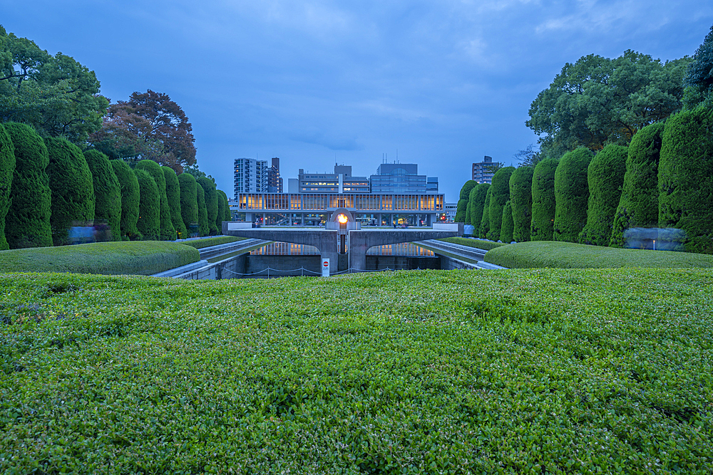
[[624,231],[629,228],[658,226],[659,155],[663,131],[664,123],[657,122],[639,130],[631,140],[610,246],[625,246]]

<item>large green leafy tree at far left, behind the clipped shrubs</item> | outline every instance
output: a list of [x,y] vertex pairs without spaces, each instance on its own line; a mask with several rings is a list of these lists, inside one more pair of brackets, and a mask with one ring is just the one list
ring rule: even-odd
[[108,100],[93,71],[71,56],[51,56],[0,26],[0,121],[24,122],[43,137],[84,143],[101,127]]

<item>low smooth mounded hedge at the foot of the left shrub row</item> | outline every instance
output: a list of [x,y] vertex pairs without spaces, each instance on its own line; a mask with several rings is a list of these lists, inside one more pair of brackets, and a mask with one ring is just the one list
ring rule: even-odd
[[0,272],[150,276],[200,260],[193,247],[165,241],[97,242],[0,251]]

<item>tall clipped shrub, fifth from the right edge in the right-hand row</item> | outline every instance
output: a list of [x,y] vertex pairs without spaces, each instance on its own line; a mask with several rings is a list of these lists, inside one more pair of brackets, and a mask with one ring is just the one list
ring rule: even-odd
[[555,170],[560,163],[555,158],[545,158],[533,171],[533,204],[530,221],[532,241],[552,241],[555,221]]

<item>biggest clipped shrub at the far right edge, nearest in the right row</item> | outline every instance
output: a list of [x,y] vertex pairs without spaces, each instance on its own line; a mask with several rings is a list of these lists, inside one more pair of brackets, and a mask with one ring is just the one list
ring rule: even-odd
[[667,120],[659,162],[659,226],[686,231],[687,252],[713,254],[713,109]]

